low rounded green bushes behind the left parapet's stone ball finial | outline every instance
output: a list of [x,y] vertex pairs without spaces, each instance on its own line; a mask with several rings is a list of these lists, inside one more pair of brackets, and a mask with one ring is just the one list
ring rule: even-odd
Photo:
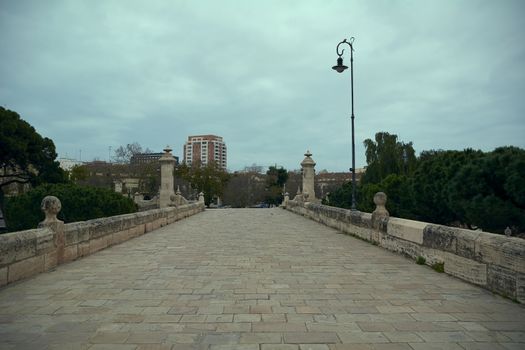
[[62,202],[62,210],[58,218],[66,223],[132,213],[137,210],[131,199],[103,188],[74,184],[46,184],[6,199],[5,218],[8,229],[19,231],[37,227],[44,218],[40,204],[48,195],[56,196]]

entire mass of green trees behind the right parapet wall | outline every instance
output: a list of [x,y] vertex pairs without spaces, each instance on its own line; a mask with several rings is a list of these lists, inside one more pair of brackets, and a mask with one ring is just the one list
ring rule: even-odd
[[[388,196],[391,216],[525,232],[525,150],[432,150],[415,159],[412,143],[388,133],[377,133],[376,141],[366,140],[365,146],[368,167],[357,188],[359,210],[372,212],[373,197],[381,191]],[[329,204],[350,208],[351,193],[351,183],[345,184],[330,194]]]

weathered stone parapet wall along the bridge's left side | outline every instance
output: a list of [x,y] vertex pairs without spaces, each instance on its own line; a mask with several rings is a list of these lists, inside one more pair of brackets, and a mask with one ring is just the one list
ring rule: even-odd
[[204,210],[197,202],[0,235],[0,286],[93,254]]

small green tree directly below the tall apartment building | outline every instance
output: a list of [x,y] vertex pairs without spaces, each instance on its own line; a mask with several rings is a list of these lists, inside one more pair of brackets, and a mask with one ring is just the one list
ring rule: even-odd
[[181,164],[175,176],[187,181],[197,192],[204,193],[204,202],[209,205],[216,197],[222,197],[230,175],[215,164],[192,166]]

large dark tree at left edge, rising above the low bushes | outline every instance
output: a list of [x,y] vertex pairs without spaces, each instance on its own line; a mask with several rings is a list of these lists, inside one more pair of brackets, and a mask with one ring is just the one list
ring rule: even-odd
[[40,136],[18,113],[0,107],[0,192],[14,183],[66,182],[56,157],[51,139]]

